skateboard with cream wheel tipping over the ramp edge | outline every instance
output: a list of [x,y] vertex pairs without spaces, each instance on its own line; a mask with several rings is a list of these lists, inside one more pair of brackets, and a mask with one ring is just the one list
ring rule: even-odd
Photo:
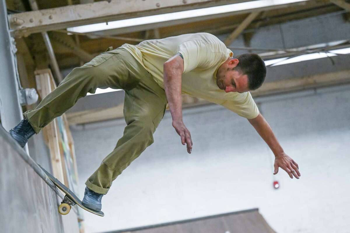
[[67,188],[64,184],[62,184],[59,180],[57,180],[54,176],[52,176],[47,170],[45,170],[43,167],[39,165],[39,167],[44,171],[44,173],[47,175],[47,177],[56,185],[57,188],[61,189],[65,196],[61,202],[61,205],[58,206],[58,212],[60,214],[68,214],[71,206],[73,205],[78,205],[82,209],[89,211],[90,213],[96,214],[98,216],[104,216],[105,214],[102,211],[94,211],[90,210],[89,208],[86,208],[83,206],[82,201],[69,189]]

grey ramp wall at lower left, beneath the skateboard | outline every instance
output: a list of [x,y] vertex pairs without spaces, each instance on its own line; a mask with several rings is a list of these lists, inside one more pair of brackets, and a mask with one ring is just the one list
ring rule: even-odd
[[78,233],[74,210],[66,216],[58,213],[61,199],[22,158],[26,152],[1,126],[0,131],[0,231]]

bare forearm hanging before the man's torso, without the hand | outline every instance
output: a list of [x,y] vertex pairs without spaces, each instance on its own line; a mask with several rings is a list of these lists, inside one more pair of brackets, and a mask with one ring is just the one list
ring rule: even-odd
[[173,121],[182,120],[181,75],[176,63],[164,65],[164,89]]

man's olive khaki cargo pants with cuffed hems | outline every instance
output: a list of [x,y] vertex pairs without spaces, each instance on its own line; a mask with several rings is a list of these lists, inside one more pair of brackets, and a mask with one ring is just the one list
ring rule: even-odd
[[104,52],[77,67],[45,97],[35,110],[23,113],[35,133],[61,116],[78,99],[98,87],[125,90],[124,117],[127,126],[114,150],[87,179],[86,186],[106,194],[112,181],[153,143],[153,133],[164,116],[167,99],[145,68],[125,49]]

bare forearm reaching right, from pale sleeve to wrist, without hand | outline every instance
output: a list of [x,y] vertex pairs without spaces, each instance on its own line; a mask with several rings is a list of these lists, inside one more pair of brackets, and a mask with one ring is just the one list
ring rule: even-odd
[[264,139],[266,144],[271,148],[275,156],[284,153],[283,148],[279,144],[277,138],[275,137],[271,127],[266,122],[265,118],[259,114],[254,119],[248,119],[254,129],[259,133],[260,137]]

